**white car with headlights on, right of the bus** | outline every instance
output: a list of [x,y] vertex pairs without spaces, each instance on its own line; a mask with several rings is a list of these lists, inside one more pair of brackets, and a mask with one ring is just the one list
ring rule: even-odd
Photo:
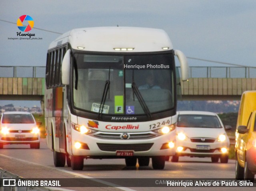
[[225,126],[216,113],[202,111],[177,112],[176,154],[172,162],[180,156],[211,157],[212,162],[228,163],[229,138]]

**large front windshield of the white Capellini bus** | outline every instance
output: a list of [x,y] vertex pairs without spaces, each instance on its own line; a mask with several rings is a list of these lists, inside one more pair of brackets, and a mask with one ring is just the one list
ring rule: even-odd
[[150,115],[174,108],[174,56],[171,53],[75,53],[74,57],[76,109],[103,115]]

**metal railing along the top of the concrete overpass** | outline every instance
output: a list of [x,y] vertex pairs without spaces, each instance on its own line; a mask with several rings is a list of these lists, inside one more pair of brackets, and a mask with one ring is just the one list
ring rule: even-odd
[[[178,67],[180,70],[180,67]],[[45,77],[45,66],[0,66],[0,77]],[[192,66],[191,78],[256,78],[256,67]]]

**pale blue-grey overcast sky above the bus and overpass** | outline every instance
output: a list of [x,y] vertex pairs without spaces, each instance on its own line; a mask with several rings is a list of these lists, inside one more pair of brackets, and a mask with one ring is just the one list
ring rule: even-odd
[[[8,39],[22,15],[42,39]],[[231,66],[191,59],[199,58],[255,67],[255,18],[255,0],[0,0],[0,66],[45,66],[58,33],[118,25],[165,30],[190,66]]]

